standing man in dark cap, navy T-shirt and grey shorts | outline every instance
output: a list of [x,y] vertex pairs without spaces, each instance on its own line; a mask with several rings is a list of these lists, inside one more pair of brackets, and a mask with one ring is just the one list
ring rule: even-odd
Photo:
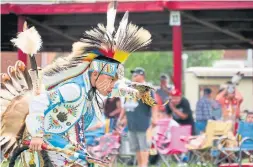
[[[132,81],[145,83],[145,71],[143,68],[135,68],[131,71]],[[154,97],[154,94],[152,94]],[[151,108],[142,100],[133,101],[127,99],[125,104],[127,127],[129,132],[130,149],[136,152],[139,167],[147,167],[149,159],[150,143],[147,141],[147,129],[156,122],[156,109]],[[152,111],[151,111],[152,110]],[[151,119],[152,117],[152,119]]]

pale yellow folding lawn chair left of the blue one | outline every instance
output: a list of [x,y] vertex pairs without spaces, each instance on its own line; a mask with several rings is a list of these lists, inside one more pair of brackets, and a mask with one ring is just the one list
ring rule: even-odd
[[232,122],[209,120],[204,134],[192,136],[188,139],[186,148],[192,152],[190,162],[203,164],[210,163],[213,159],[211,150],[215,141],[221,137],[227,136],[231,132]]

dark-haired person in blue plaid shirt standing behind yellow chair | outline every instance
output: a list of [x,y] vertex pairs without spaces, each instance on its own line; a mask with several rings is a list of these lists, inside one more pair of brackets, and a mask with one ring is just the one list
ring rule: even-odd
[[212,118],[211,94],[211,89],[205,88],[203,96],[197,102],[195,124],[197,135],[205,131],[207,121]]

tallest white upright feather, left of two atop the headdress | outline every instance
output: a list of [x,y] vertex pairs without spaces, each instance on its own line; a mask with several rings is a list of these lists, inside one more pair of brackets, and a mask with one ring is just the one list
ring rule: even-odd
[[110,35],[112,35],[114,31],[114,22],[115,22],[116,13],[117,13],[117,1],[109,3],[108,10],[107,10],[106,30],[109,32]]

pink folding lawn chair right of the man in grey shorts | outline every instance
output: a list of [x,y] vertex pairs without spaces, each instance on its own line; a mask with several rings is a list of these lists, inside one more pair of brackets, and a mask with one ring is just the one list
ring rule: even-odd
[[186,143],[182,138],[191,135],[191,126],[173,126],[171,129],[168,129],[169,120],[162,120],[157,123],[156,128],[156,134],[153,137],[153,146],[158,151],[162,162],[168,167],[170,166],[168,158],[174,156],[176,161],[181,163],[178,155],[188,151],[185,147]]

